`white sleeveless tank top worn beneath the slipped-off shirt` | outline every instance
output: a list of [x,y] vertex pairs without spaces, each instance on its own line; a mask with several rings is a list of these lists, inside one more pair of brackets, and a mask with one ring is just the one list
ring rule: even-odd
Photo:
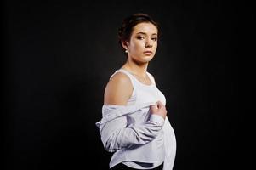
[[[154,82],[154,78],[149,72],[146,72],[146,74],[151,79],[151,85],[146,85],[142,82],[139,82],[139,80],[134,77],[132,73],[129,71],[126,71],[124,69],[117,70],[114,74],[111,75],[113,77],[117,72],[122,72],[126,74],[133,85],[133,93],[128,99],[127,105],[141,105],[148,102],[156,102],[160,100],[163,105],[166,105],[166,99],[165,96],[162,94],[162,92],[156,88],[156,83]],[[149,114],[146,115],[146,113],[143,115],[136,115],[134,114],[128,115],[128,124],[143,124],[145,123],[145,120],[148,120]],[[157,149],[156,149],[157,148]],[[139,156],[137,155],[139,153]],[[138,169],[148,169],[148,168],[154,168],[162,164],[164,161],[165,156],[164,151],[164,141],[163,141],[163,131],[161,130],[159,134],[157,135],[156,139],[151,141],[151,143],[145,144],[143,147],[140,147],[136,150],[136,152],[132,153],[125,153],[121,151],[117,151],[113,156],[112,160],[119,160],[123,164],[127,165],[128,167],[138,168]],[[142,159],[144,158],[144,159]],[[135,160],[134,160],[135,159]],[[132,161],[134,160],[134,161]],[[150,162],[151,167],[145,167],[146,162]]]

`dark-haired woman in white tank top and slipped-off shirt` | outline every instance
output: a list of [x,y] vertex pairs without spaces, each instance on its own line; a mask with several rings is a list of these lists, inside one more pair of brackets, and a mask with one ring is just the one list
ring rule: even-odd
[[156,54],[158,26],[147,14],[123,20],[119,42],[127,61],[105,87],[103,118],[96,125],[111,169],[165,169],[174,166],[176,141],[165,97],[147,71]]

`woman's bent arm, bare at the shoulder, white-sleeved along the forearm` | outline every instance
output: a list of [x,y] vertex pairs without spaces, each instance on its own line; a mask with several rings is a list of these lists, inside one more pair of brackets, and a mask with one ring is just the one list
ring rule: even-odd
[[[126,105],[132,92],[133,86],[129,78],[122,73],[117,73],[105,88],[105,104]],[[157,112],[156,108],[154,112]],[[105,150],[115,151],[133,144],[150,142],[162,129],[164,117],[152,114],[145,124],[131,127],[127,127],[126,116],[120,116],[105,123],[100,132]]]

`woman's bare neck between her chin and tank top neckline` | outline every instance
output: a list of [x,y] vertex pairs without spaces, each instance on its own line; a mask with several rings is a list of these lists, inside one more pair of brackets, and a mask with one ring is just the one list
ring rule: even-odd
[[148,62],[139,63],[132,59],[128,59],[127,62],[122,65],[123,69],[126,69],[139,77],[146,77]]

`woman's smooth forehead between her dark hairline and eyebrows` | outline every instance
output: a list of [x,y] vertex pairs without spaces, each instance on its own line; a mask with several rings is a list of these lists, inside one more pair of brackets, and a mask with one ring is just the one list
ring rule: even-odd
[[151,22],[142,22],[134,26],[133,33],[145,32],[146,34],[157,34],[157,28]]

